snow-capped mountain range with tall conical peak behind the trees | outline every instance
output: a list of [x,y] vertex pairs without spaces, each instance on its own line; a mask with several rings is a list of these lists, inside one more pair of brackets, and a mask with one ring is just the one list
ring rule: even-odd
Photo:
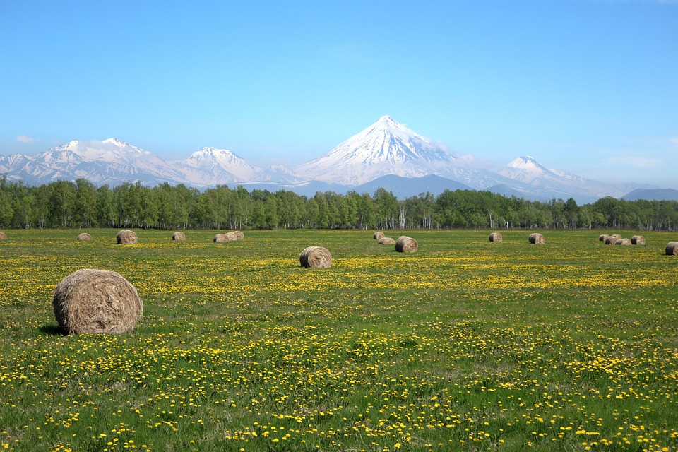
[[652,188],[583,179],[547,169],[528,156],[518,157],[508,165],[494,165],[470,155],[456,155],[388,116],[295,168],[257,167],[231,150],[215,148],[202,148],[183,160],[163,160],[147,150],[109,138],[71,141],[34,156],[0,156],[0,174],[30,185],[84,178],[96,185],[137,181],[149,186],[169,182],[198,188],[242,185],[246,189],[285,189],[307,196],[316,191],[372,194],[383,187],[398,198],[427,191],[439,194],[445,189],[477,189],[527,199],[574,198],[578,203]]

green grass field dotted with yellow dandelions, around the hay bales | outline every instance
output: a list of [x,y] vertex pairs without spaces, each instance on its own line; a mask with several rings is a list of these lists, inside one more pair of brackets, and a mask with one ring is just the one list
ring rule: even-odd
[[[674,233],[4,232],[0,451],[678,450]],[[135,285],[133,333],[59,334],[80,268]]]

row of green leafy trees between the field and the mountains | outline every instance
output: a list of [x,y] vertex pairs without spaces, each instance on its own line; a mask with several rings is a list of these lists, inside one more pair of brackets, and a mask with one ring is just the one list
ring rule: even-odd
[[247,191],[227,186],[199,191],[184,184],[95,186],[86,179],[41,186],[0,177],[0,227],[131,227],[176,229],[576,229],[675,230],[678,201],[600,198],[528,201],[489,191],[422,193],[398,200],[374,194]]

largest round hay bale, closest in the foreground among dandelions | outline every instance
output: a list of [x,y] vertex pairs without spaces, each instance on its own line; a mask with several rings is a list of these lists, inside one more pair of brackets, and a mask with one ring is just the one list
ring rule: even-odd
[[92,268],[61,280],[52,307],[59,326],[69,334],[129,333],[143,314],[143,302],[128,280]]

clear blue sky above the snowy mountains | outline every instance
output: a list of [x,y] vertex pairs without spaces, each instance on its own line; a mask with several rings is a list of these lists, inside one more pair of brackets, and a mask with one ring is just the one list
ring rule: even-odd
[[384,115],[678,189],[678,0],[0,0],[0,155],[114,137],[292,167]]

